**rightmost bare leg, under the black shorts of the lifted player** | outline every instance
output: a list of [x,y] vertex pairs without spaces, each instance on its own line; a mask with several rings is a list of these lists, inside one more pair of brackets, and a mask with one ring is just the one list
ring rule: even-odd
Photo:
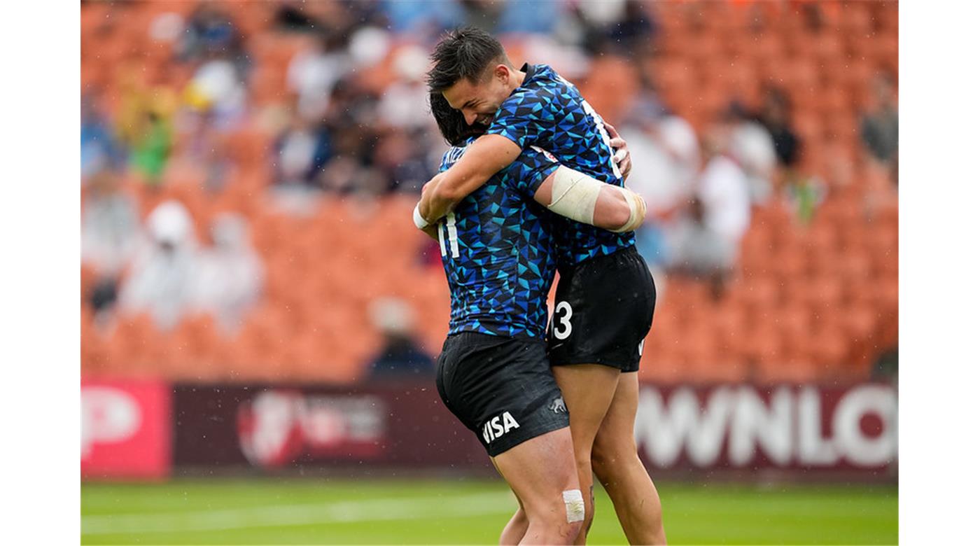
[[633,425],[639,398],[637,372],[619,377],[613,403],[592,448],[592,470],[613,500],[630,544],[666,544],[661,498],[636,453]]

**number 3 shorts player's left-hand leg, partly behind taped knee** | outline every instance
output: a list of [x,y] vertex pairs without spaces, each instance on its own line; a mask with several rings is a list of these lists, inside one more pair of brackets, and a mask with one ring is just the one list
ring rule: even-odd
[[552,367],[555,380],[562,389],[571,442],[575,448],[575,467],[578,482],[585,496],[585,522],[575,544],[585,544],[585,536],[595,515],[592,495],[592,442],[613,401],[619,370],[609,366],[580,364]]

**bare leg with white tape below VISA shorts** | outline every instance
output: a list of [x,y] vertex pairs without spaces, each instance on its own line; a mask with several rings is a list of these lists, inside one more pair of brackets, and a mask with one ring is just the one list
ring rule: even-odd
[[494,464],[527,518],[519,544],[571,544],[585,510],[568,428],[521,442],[494,457]]

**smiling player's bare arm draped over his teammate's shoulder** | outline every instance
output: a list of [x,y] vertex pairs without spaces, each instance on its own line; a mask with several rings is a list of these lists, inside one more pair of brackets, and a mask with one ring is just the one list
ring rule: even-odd
[[520,148],[511,139],[484,134],[469,145],[453,167],[429,180],[432,187],[422,195],[418,212],[426,222],[434,223],[519,155]]

